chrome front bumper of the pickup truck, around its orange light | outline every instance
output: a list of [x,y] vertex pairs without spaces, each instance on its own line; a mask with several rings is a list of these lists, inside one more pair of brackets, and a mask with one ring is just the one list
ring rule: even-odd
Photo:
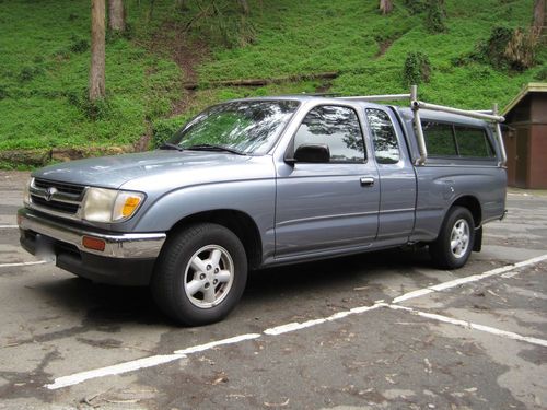
[[[20,209],[18,212],[18,224],[22,231],[32,231],[73,245],[81,251],[109,258],[155,258],[160,254],[166,238],[165,233],[100,234],[44,220],[25,208]],[[105,242],[105,249],[100,251],[84,247],[82,245],[84,236],[103,239]]]

